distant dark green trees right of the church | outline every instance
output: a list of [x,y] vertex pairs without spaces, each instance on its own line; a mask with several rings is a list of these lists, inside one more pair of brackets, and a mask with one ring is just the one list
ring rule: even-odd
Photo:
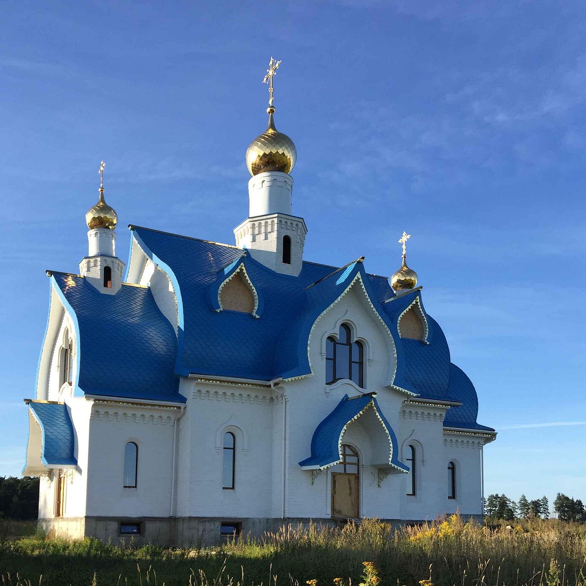
[[[586,510],[581,500],[575,500],[561,492],[557,493],[553,509],[558,519],[586,523]],[[492,519],[548,519],[550,517],[549,501],[546,496],[529,500],[521,495],[515,502],[506,495],[488,495],[485,502],[485,515]]]

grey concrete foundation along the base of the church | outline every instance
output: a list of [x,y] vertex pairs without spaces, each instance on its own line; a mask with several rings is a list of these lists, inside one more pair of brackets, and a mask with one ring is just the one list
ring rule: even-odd
[[[465,516],[483,523],[482,515]],[[381,519],[394,529],[404,525],[422,524],[421,520]],[[121,535],[120,524],[140,523],[140,534]],[[141,546],[147,543],[163,547],[207,547],[222,542],[220,527],[222,523],[234,523],[240,528],[240,536],[262,537],[265,533],[277,532],[283,526],[308,527],[310,523],[324,527],[343,527],[345,519],[250,519],[230,518],[213,519],[210,517],[71,517],[56,519],[39,519],[38,527],[49,536],[83,539],[96,537],[100,541],[113,544],[133,543]]]

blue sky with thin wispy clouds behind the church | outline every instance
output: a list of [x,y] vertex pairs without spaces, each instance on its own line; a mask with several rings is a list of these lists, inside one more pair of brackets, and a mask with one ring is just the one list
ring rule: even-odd
[[298,150],[305,258],[392,274],[472,378],[486,492],[586,498],[584,4],[299,1],[0,5],[0,475],[16,475],[46,323],[77,272],[100,159],[128,223],[233,243],[244,152]]

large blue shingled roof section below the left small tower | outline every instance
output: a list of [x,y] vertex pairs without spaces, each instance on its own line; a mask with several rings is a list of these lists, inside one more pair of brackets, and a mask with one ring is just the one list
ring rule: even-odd
[[105,295],[85,278],[53,273],[76,321],[76,387],[100,396],[185,402],[173,370],[175,331],[146,287],[122,285]]

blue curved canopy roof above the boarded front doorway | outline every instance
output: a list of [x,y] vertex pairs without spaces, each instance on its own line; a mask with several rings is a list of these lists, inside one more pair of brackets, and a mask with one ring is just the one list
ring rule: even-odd
[[324,468],[340,461],[339,442],[346,425],[353,420],[370,403],[379,414],[384,427],[389,432],[391,444],[389,445],[389,464],[401,471],[408,472],[408,466],[401,464],[397,458],[397,437],[384,417],[379,404],[370,394],[349,398],[345,395],[336,405],[335,409],[315,428],[311,438],[311,456],[299,462],[299,466],[305,469]]

